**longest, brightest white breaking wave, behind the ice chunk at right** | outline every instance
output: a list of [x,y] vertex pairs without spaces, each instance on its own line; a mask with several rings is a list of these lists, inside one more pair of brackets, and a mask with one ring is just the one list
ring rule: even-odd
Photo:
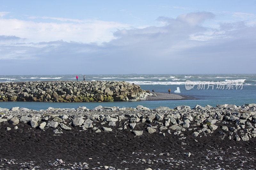
[[[194,85],[217,85],[217,84],[239,84],[239,83],[244,83],[246,79],[238,79],[238,80],[225,80],[225,81],[193,81],[191,84]],[[185,85],[185,82],[153,82],[153,81],[127,81],[128,83],[134,83],[138,85]],[[251,84],[246,84],[246,85],[251,85]]]

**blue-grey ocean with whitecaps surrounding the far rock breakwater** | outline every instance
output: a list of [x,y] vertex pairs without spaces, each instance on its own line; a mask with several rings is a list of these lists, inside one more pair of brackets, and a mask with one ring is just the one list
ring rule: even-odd
[[[84,75],[77,75],[78,81]],[[77,108],[85,106],[92,109],[96,106],[137,107],[142,105],[148,108],[166,106],[173,108],[187,105],[191,108],[196,104],[215,107],[217,104],[256,103],[256,74],[111,74],[111,75],[85,75],[87,81],[126,81],[140,85],[143,90],[173,93],[180,88],[182,95],[193,96],[197,100],[162,100],[162,101],[136,101],[136,102],[100,102],[100,103],[48,103],[48,102],[0,102],[0,107],[26,107],[40,110],[48,107]],[[76,75],[3,75],[0,82],[18,81],[76,81]],[[193,88],[192,88],[193,87]],[[188,90],[189,89],[189,90]]]

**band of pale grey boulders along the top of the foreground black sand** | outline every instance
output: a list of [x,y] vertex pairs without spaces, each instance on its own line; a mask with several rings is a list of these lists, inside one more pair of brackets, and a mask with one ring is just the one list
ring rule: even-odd
[[126,130],[134,136],[159,133],[163,136],[177,135],[183,140],[190,134],[196,138],[218,136],[222,140],[248,141],[256,137],[256,104],[196,105],[192,109],[189,106],[149,109],[140,105],[137,108],[98,106],[92,110],[86,107],[49,107],[40,111],[19,107],[10,110],[0,108],[0,123],[4,122],[8,122],[4,124],[6,130],[11,130],[8,124],[28,123],[31,128],[52,128],[55,135],[79,127],[80,131],[92,129],[94,133]]

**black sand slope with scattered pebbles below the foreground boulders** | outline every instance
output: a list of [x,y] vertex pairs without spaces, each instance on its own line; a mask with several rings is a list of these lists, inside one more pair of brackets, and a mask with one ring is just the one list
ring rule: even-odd
[[[12,130],[6,131],[6,126]],[[42,131],[31,129],[25,123],[17,126],[15,130],[8,122],[0,125],[0,159],[15,159],[18,163],[0,162],[0,169],[20,169],[19,163],[29,161],[33,161],[33,166],[39,166],[38,169],[70,168],[75,162],[82,165],[86,162],[89,169],[100,166],[116,169],[254,169],[256,166],[254,138],[237,142],[220,140],[217,132],[208,137],[194,137],[192,131],[186,131],[183,134],[187,138],[179,140],[180,136],[163,136],[159,130],[154,134],[135,136],[130,133],[130,128],[95,133],[92,129],[80,132],[78,127],[53,136],[52,128]],[[145,130],[146,127],[147,123],[140,123],[135,130]],[[190,157],[185,155],[187,152],[191,153]],[[65,166],[49,165],[55,159],[65,161]],[[150,159],[154,164],[142,164],[139,159],[146,162]]]

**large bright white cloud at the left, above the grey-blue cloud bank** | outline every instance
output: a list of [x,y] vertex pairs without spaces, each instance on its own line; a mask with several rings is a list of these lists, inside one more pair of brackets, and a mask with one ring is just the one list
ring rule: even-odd
[[0,33],[8,36],[15,35],[26,38],[27,42],[56,41],[63,39],[64,41],[101,43],[112,40],[114,38],[112,32],[116,31],[117,28],[129,27],[127,24],[94,19],[42,18],[59,20],[61,22],[36,22],[32,20],[0,18]]

